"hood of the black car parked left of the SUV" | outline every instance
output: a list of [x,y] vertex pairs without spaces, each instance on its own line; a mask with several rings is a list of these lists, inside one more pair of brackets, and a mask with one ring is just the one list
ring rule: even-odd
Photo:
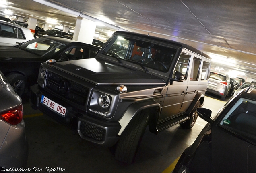
[[[0,46],[0,60],[12,58],[40,58],[41,56],[29,53],[14,46]],[[0,61],[1,62],[1,61]]]

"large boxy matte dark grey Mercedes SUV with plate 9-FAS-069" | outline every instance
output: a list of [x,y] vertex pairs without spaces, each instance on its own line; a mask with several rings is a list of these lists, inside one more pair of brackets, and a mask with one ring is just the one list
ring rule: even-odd
[[115,32],[94,59],[42,63],[31,103],[132,163],[147,125],[155,134],[178,123],[193,127],[210,64],[188,45]]

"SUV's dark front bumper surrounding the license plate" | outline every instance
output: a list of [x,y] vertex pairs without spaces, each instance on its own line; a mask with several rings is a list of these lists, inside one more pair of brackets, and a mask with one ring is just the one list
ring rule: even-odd
[[[62,117],[58,113],[41,104],[40,101],[42,94],[52,101],[68,108],[66,116]],[[86,113],[86,110],[79,110],[69,103],[46,93],[37,84],[31,86],[30,105],[33,109],[39,109],[55,120],[68,125],[77,131],[81,138],[87,141],[105,146],[112,146],[119,139],[117,134],[120,131],[121,126],[118,122],[97,119]]]

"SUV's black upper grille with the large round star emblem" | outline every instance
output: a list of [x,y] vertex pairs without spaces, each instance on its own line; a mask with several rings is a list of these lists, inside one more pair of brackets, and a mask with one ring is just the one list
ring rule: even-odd
[[46,88],[79,105],[85,105],[88,95],[87,87],[52,72],[47,75]]

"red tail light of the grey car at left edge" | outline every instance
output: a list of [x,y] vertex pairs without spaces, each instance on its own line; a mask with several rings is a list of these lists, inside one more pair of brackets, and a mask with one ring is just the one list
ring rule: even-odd
[[1,113],[0,118],[12,125],[17,125],[22,121],[22,118],[23,118],[22,104],[9,111]]

